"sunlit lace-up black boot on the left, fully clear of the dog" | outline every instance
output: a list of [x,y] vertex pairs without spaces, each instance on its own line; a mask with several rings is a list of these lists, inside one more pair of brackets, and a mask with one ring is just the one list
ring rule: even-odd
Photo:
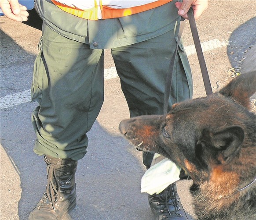
[[76,206],[77,161],[44,156],[47,163],[46,192],[29,215],[29,220],[61,220]]

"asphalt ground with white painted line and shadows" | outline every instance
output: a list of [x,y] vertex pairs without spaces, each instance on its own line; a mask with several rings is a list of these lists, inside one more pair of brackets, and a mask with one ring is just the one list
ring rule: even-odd
[[[211,0],[197,21],[213,91],[240,72],[243,60],[255,55],[255,0]],[[0,219],[25,220],[37,204],[46,185],[43,158],[33,153],[35,141],[30,122],[37,103],[30,103],[29,89],[33,61],[41,32],[28,25],[0,18],[1,24],[1,174]],[[183,32],[185,49],[194,76],[194,97],[205,96],[201,72],[188,26]],[[252,47],[253,46],[253,47]],[[251,48],[252,47],[252,48]],[[246,64],[255,68],[255,58]],[[110,51],[105,53],[105,102],[88,133],[87,155],[79,161],[77,207],[66,216],[73,220],[153,219],[147,195],[140,193],[145,172],[141,152],[122,138],[119,122],[128,118]],[[191,181],[179,181],[184,208],[195,218],[188,188]]]

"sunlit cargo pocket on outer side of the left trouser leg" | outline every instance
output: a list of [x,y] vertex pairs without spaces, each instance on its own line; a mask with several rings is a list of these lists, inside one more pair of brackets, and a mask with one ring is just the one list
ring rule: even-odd
[[40,38],[38,43],[38,50],[40,51],[37,55],[37,58],[34,63],[34,70],[33,70],[33,81],[31,85],[31,101],[40,103],[43,86],[44,86],[44,75],[45,75],[45,68],[43,62],[43,53],[42,53],[42,41],[43,37]]

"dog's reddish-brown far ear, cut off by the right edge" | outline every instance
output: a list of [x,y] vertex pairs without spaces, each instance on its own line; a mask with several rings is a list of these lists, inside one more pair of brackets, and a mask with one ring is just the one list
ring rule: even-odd
[[219,91],[250,109],[250,97],[256,92],[256,71],[241,74]]

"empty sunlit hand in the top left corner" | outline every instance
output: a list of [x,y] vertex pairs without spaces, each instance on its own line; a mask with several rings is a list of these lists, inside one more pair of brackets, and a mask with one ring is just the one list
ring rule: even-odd
[[18,0],[0,0],[0,8],[4,15],[14,21],[27,21],[27,8],[18,3]]

